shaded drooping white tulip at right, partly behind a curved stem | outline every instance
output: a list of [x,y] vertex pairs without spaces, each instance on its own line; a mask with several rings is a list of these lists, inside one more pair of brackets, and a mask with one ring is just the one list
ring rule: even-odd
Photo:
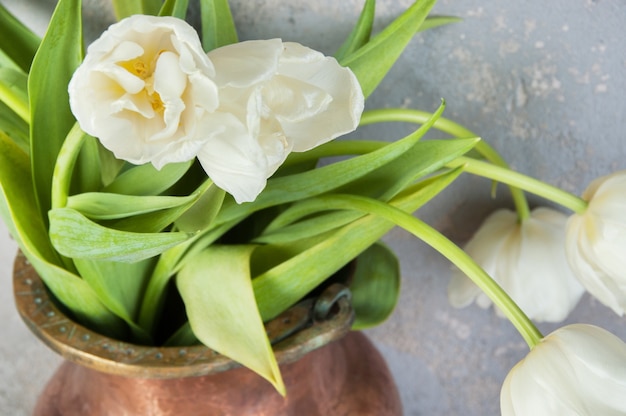
[[[567,216],[537,208],[521,224],[513,211],[490,215],[465,246],[465,251],[536,321],[560,322],[584,293],[565,255]],[[455,270],[448,286],[455,307],[489,298],[462,272]],[[503,316],[500,310],[496,310]]]

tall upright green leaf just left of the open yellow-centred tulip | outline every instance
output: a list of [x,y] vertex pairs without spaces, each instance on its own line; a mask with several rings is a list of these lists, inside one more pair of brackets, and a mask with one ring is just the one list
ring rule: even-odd
[[82,48],[81,1],[60,0],[28,78],[31,168],[44,221],[51,207],[56,158],[74,124],[67,85],[82,60]]

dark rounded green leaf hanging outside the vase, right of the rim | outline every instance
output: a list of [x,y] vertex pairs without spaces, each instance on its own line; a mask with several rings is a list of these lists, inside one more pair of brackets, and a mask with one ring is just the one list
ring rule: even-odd
[[357,257],[350,291],[352,329],[371,328],[391,315],[400,296],[400,265],[386,245],[376,243]]

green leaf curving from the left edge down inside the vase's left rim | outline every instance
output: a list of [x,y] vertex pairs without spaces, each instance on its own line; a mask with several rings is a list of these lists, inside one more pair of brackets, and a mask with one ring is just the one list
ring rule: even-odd
[[119,336],[120,321],[75,274],[60,267],[35,203],[28,156],[0,132],[0,215],[44,283],[79,322]]

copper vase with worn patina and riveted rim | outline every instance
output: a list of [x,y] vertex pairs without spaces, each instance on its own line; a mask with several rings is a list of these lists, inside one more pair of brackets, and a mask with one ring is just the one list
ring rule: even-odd
[[13,280],[28,327],[66,359],[40,396],[36,416],[402,414],[380,353],[350,331],[353,311],[339,285],[267,324],[287,386],[283,398],[257,374],[204,346],[138,346],[73,322],[21,254]]

